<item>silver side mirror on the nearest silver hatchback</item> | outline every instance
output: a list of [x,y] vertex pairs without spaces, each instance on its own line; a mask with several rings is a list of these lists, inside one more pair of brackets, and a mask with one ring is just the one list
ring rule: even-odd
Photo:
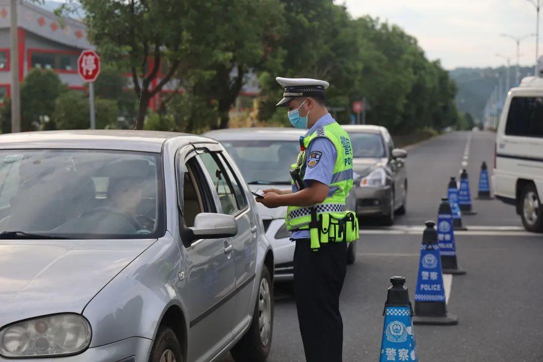
[[230,238],[237,234],[237,223],[232,215],[203,212],[196,215],[189,229],[193,240]]

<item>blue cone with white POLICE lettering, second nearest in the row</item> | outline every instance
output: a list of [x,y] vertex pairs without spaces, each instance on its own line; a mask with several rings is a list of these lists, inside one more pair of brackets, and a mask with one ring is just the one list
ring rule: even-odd
[[438,234],[434,226],[433,221],[426,221],[426,229],[422,233],[413,323],[415,325],[456,325],[458,318],[447,314]]

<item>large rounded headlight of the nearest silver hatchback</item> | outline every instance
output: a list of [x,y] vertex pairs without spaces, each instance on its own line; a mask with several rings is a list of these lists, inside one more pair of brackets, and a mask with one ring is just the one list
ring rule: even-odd
[[56,314],[18,322],[0,331],[3,357],[52,357],[85,350],[91,326],[81,315]]

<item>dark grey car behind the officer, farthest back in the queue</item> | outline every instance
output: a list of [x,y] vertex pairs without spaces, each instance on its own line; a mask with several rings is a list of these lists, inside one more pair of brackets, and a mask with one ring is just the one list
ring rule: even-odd
[[356,213],[377,216],[383,225],[394,224],[394,213],[407,209],[407,151],[394,147],[388,130],[374,125],[348,125],[352,166],[357,180]]

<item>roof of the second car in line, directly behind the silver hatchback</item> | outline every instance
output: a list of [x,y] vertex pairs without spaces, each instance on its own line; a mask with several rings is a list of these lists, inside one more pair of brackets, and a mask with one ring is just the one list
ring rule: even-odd
[[241,141],[243,139],[298,141],[300,136],[304,136],[306,132],[306,130],[295,128],[252,127],[214,130],[205,132],[203,136],[217,139],[218,141]]

